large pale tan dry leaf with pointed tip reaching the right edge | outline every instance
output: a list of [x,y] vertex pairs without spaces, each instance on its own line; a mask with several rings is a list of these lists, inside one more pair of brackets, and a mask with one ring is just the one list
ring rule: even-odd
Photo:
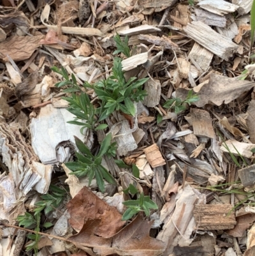
[[[224,75],[211,73],[208,82],[204,82],[193,88],[193,91],[200,96],[200,100],[194,102],[194,105],[196,105],[196,107],[203,107],[205,104],[212,103],[217,106],[222,103],[228,104],[254,86],[254,82],[238,80],[225,77]],[[177,98],[184,99],[186,98],[187,93],[188,90],[179,88],[176,91],[176,96]]]

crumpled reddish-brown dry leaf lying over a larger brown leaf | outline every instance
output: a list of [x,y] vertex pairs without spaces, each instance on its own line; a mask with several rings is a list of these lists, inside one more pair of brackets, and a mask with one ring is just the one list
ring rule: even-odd
[[101,219],[94,234],[101,237],[110,237],[119,232],[125,222],[115,207],[109,206],[99,199],[91,190],[84,187],[67,204],[70,214],[69,223],[76,230],[81,230],[88,219]]

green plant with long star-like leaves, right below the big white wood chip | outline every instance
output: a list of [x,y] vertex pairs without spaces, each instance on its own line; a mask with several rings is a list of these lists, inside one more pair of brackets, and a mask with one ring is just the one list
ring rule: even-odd
[[[101,192],[105,192],[105,183],[103,179],[108,181],[108,183],[117,185],[112,174],[108,172],[103,165],[101,165],[103,156],[105,154],[113,154],[114,144],[111,144],[112,133],[108,133],[105,139],[103,140],[99,152],[95,155],[91,153],[89,148],[85,146],[82,140],[75,137],[75,143],[80,151],[80,153],[76,153],[77,161],[76,162],[68,162],[66,163],[66,167],[68,167],[71,174],[75,174],[77,177],[89,177],[89,185],[94,177],[96,177],[96,183],[98,184],[98,188]],[[112,146],[113,145],[113,146]],[[109,153],[110,149],[110,153]],[[82,154],[81,154],[82,153]]]

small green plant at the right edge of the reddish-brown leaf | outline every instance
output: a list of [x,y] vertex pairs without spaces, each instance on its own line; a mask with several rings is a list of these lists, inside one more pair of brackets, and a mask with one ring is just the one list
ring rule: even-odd
[[133,184],[129,184],[128,189],[124,191],[124,193],[128,192],[136,194],[138,198],[136,200],[122,202],[122,204],[128,208],[122,215],[122,220],[129,220],[136,215],[136,213],[141,211],[143,211],[146,216],[150,216],[150,209],[158,209],[157,204],[150,199],[149,195],[144,195],[143,192],[138,193],[137,188],[133,186]]

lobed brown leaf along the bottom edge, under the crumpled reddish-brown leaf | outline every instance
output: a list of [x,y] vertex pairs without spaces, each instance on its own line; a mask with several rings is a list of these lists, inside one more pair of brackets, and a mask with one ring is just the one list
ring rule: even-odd
[[100,220],[88,220],[82,230],[68,240],[86,252],[89,251],[88,248],[92,248],[93,252],[100,256],[114,253],[129,256],[157,256],[164,252],[164,243],[149,236],[152,222],[143,220],[141,215],[109,238],[95,235],[99,225]]

